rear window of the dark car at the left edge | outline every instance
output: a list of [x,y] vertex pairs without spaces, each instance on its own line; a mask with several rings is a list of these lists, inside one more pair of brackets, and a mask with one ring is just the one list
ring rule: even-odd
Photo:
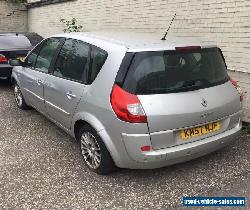
[[0,50],[30,50],[29,39],[16,33],[0,33]]

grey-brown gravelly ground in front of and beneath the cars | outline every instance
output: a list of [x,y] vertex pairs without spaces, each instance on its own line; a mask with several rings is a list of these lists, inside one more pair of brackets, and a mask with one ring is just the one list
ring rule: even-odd
[[182,196],[249,198],[249,182],[246,134],[187,163],[96,175],[74,139],[35,110],[19,110],[0,80],[0,209],[180,209]]

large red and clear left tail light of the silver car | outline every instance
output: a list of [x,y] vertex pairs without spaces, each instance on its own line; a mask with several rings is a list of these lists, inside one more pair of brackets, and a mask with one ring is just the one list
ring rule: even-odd
[[147,123],[147,116],[138,97],[116,84],[113,86],[110,103],[120,120],[130,123]]

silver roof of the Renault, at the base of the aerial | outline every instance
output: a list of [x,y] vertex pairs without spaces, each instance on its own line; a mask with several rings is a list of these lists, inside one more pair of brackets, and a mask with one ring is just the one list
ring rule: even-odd
[[161,40],[162,34],[158,33],[135,33],[135,32],[77,32],[54,35],[59,37],[75,38],[79,40],[95,43],[115,44],[126,47],[128,51],[158,51],[175,50],[175,47],[201,46],[215,47],[216,45],[207,41],[200,41],[193,38],[182,38],[167,36],[166,40]]

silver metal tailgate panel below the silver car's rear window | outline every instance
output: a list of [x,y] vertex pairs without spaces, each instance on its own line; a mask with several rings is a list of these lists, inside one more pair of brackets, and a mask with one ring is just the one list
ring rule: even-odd
[[[241,109],[239,98],[240,95],[231,82],[195,91],[139,96],[147,115],[152,142],[162,141],[162,133],[163,136],[169,137],[166,147],[182,142],[180,139],[175,140],[174,133],[170,133],[169,130],[220,121]],[[206,107],[202,105],[204,99],[207,101]],[[221,123],[222,129],[217,133],[227,129],[228,125]]]

